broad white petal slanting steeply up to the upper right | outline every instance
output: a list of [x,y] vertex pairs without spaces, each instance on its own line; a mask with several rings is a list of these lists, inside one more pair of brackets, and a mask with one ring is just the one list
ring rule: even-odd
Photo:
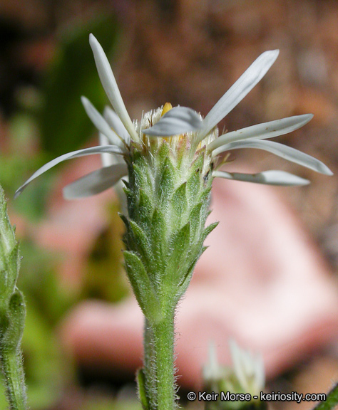
[[198,137],[199,141],[212,130],[243,98],[250,93],[252,88],[262,80],[267,70],[275,63],[279,50],[265,51],[262,53],[244,74],[232,85],[225,95],[212,107],[203,121],[203,128]]

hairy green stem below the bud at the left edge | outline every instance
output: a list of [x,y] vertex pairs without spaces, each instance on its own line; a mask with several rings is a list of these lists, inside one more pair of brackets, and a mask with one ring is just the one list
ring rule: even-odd
[[28,406],[21,351],[6,351],[4,348],[0,350],[9,410],[26,410]]

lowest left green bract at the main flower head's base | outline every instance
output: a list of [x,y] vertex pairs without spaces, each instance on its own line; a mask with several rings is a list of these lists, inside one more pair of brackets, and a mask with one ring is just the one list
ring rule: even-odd
[[133,252],[124,251],[123,256],[128,278],[140,308],[150,322],[157,322],[162,318],[163,313],[153,283],[151,283],[143,263]]

